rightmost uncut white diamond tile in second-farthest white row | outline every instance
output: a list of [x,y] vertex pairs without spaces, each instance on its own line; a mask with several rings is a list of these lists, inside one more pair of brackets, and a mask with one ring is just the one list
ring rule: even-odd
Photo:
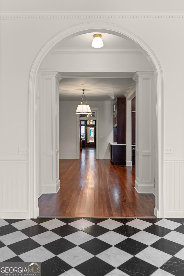
[[142,231],[132,235],[131,239],[134,239],[135,241],[139,241],[139,242],[144,243],[146,245],[151,245],[154,242],[161,239],[161,237],[158,237],[156,235],[153,235],[151,233],[148,233],[148,232],[145,232],[145,231],[142,230]]

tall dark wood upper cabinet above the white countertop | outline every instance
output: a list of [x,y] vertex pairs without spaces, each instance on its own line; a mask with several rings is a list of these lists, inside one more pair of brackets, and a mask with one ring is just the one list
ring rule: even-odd
[[126,144],[126,98],[117,98],[114,102],[114,142]]

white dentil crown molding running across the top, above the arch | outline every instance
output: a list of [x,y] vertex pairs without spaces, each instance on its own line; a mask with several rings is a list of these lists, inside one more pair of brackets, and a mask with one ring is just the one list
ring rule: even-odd
[[108,11],[77,11],[77,12],[61,12],[61,11],[1,11],[1,19],[99,19],[99,18],[184,18],[184,11],[128,11],[128,12],[108,12]]

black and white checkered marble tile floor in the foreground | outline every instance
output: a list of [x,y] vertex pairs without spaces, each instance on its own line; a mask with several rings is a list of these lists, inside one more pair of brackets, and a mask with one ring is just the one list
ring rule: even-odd
[[0,262],[42,276],[183,276],[184,219],[1,219]]

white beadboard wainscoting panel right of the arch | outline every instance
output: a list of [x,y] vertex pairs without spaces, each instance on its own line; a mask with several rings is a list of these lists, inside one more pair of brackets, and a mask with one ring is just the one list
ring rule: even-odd
[[165,218],[184,216],[184,160],[164,161]]

